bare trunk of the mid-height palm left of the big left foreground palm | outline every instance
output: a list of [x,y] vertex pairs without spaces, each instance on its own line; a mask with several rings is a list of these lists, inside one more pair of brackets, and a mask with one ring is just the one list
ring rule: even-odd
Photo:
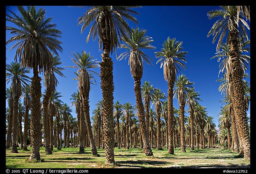
[[17,150],[18,105],[19,105],[19,97],[14,97],[13,118],[12,118],[12,151],[11,151],[12,153],[18,153],[18,150]]

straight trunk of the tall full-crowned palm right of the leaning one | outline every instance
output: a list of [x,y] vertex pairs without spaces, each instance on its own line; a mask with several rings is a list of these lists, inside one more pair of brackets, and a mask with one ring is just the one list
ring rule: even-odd
[[174,148],[173,148],[173,128],[174,128],[174,122],[173,122],[173,82],[171,80],[168,80],[168,131],[169,131],[169,148],[168,153],[174,154]]

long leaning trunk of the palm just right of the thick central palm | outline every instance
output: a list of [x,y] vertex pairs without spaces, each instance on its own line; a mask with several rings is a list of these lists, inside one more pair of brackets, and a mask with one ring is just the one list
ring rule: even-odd
[[134,78],[134,92],[135,92],[136,105],[138,110],[138,118],[140,122],[140,131],[141,131],[143,144],[144,144],[144,153],[146,156],[152,156],[153,152],[148,143],[148,135],[147,135],[146,125],[145,125],[144,106],[141,98],[140,83],[141,83],[140,79]]

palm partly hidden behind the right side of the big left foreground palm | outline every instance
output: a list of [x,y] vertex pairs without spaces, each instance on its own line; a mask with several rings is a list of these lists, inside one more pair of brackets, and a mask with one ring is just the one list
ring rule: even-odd
[[[55,109],[53,109],[50,105],[49,106],[49,99],[52,95],[53,91],[56,89],[58,84],[58,80],[55,76],[57,73],[60,77],[65,77],[64,74],[61,72],[64,68],[59,67],[60,62],[59,56],[54,56],[52,54],[52,67],[50,70],[44,71],[44,86],[45,86],[45,94],[43,98],[43,121],[44,121],[44,147],[46,154],[52,154],[53,150],[53,115],[55,115]],[[48,108],[50,108],[48,110]],[[50,111],[50,112],[49,112]]]

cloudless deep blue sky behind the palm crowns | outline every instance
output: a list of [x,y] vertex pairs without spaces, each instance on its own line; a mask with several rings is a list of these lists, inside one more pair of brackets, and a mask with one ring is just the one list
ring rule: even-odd
[[[73,57],[72,52],[81,53],[82,50],[90,53],[91,56],[101,61],[102,50],[99,50],[99,44],[92,39],[86,42],[86,38],[89,32],[89,28],[85,28],[81,34],[81,26],[77,26],[77,19],[87,11],[87,8],[77,8],[68,6],[36,6],[38,10],[40,7],[46,9],[46,17],[53,17],[52,23],[56,23],[56,28],[62,31],[61,46],[63,52],[59,52],[61,66],[72,66],[74,63],[71,60]],[[10,9],[12,12],[18,13],[16,6],[9,6],[6,8],[6,13]],[[154,42],[153,46],[155,50],[144,50],[144,52],[150,56],[153,61],[152,65],[144,64],[144,72],[141,80],[141,84],[144,81],[150,81],[150,84],[154,88],[160,88],[162,92],[167,96],[168,86],[164,81],[163,68],[160,68],[160,64],[156,64],[157,58],[154,52],[160,51],[162,44],[168,38],[176,38],[177,41],[183,42],[182,46],[184,51],[187,51],[186,56],[186,70],[183,70],[185,76],[190,81],[194,82],[195,90],[199,92],[199,103],[205,106],[208,111],[208,116],[214,117],[216,126],[218,125],[218,118],[223,96],[218,91],[220,82],[216,82],[219,72],[219,62],[216,59],[210,59],[216,53],[216,43],[212,43],[213,37],[207,37],[213,23],[216,19],[208,19],[207,12],[218,9],[218,6],[142,6],[142,8],[135,8],[139,15],[134,15],[138,20],[138,25],[130,23],[130,26],[135,28],[138,26],[140,29],[146,29],[146,35],[152,37]],[[12,26],[12,23],[6,21],[7,26]],[[250,31],[248,31],[250,38]],[[6,31],[6,41],[11,37],[9,31]],[[9,51],[14,43],[6,46],[6,63],[10,64],[14,61],[15,49]],[[117,49],[117,54],[121,54],[123,50]],[[136,105],[136,99],[134,94],[134,80],[131,76],[128,59],[117,61],[116,53],[112,54],[113,64],[113,76],[114,76],[114,102],[120,101],[121,104],[130,102]],[[100,73],[100,68],[95,69]],[[78,90],[76,85],[77,81],[72,80],[75,78],[76,69],[65,68],[65,77],[58,77],[59,84],[57,86],[57,92],[60,92],[63,97],[60,99],[67,103],[71,107],[71,95]],[[250,69],[247,70],[250,76]],[[180,72],[181,74],[181,72]],[[32,73],[30,75],[32,77]],[[92,117],[92,110],[96,108],[96,103],[101,100],[102,94],[100,89],[100,77],[94,76],[96,79],[96,85],[92,85],[90,91],[90,113]],[[43,78],[42,78],[43,79]],[[246,79],[250,82],[250,78]],[[43,81],[42,93],[44,92]],[[9,84],[6,85],[6,88]],[[174,107],[179,108],[177,99],[173,101]],[[186,106],[186,109],[188,107]],[[76,117],[75,108],[72,108],[72,115]],[[189,113],[185,114],[189,116]],[[250,108],[248,110],[248,116],[250,116]]]

